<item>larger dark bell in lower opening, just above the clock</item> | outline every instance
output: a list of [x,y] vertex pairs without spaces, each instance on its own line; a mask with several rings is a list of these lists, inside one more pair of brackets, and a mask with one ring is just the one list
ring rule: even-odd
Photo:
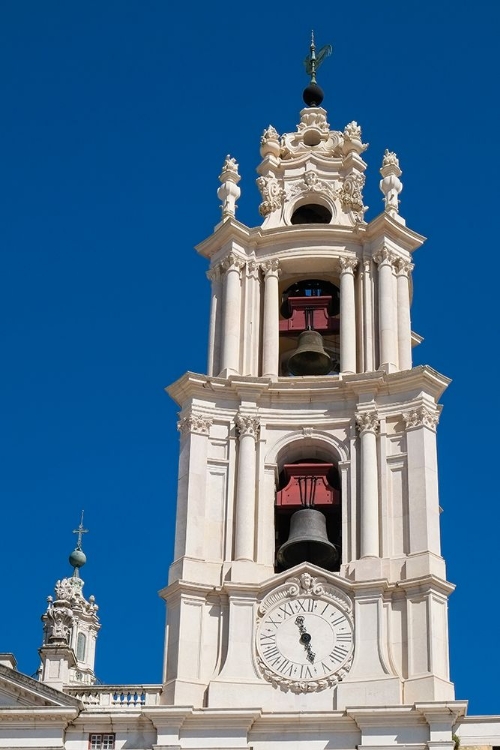
[[331,570],[339,556],[337,547],[326,533],[326,518],[320,510],[302,508],[290,519],[290,534],[278,550],[278,562],[283,568],[292,568],[301,562],[310,562]]

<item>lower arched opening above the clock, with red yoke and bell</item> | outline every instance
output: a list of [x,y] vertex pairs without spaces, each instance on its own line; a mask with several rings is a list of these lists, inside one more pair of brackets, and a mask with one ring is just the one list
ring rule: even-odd
[[340,480],[333,462],[305,457],[283,463],[275,496],[276,572],[305,561],[338,571],[341,520]]

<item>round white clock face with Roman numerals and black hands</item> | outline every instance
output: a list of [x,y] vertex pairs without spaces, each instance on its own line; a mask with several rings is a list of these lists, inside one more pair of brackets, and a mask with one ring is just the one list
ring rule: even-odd
[[257,631],[265,667],[297,682],[328,680],[352,656],[350,618],[331,601],[313,596],[282,601],[266,612]]

